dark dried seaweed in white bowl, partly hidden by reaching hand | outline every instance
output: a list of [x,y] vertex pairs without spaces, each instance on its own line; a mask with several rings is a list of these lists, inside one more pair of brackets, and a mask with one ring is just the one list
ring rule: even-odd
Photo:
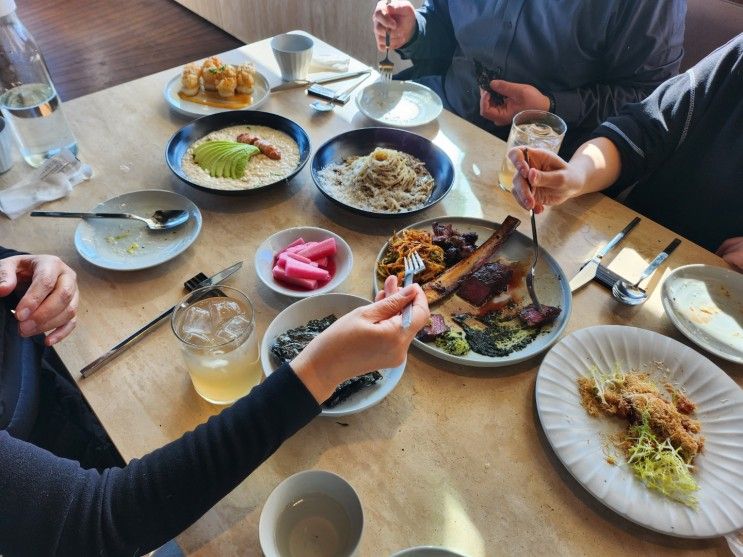
[[[335,315],[328,315],[322,319],[312,319],[302,327],[289,329],[280,334],[271,344],[271,353],[280,363],[291,362],[310,341],[325,329],[330,327],[336,320]],[[382,380],[382,374],[378,371],[372,371],[347,379],[335,389],[328,400],[323,402],[324,408],[334,408],[351,395],[357,393],[364,387],[374,385],[377,381]]]

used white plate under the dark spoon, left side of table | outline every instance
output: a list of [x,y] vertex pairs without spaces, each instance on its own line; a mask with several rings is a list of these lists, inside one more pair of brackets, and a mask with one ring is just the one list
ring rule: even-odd
[[86,261],[113,271],[165,263],[188,248],[201,231],[201,212],[190,199],[165,190],[133,191],[99,203],[91,212],[150,216],[157,209],[185,209],[191,216],[172,230],[150,230],[136,220],[83,220],[75,230],[75,249]]

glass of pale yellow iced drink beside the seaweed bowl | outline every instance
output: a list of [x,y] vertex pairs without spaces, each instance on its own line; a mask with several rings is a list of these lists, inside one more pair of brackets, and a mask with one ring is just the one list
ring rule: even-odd
[[261,378],[255,311],[229,286],[194,290],[171,318],[194,389],[213,404],[231,404]]

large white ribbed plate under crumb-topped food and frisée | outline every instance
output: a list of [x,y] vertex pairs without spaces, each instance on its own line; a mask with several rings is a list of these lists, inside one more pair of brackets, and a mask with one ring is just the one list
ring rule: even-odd
[[[694,510],[645,487],[624,460],[606,462],[606,434],[618,420],[592,418],[580,404],[577,379],[595,364],[609,370],[668,367],[657,376],[686,391],[697,405],[706,441],[695,459],[699,508]],[[552,448],[568,471],[594,497],[623,517],[651,530],[685,538],[723,536],[743,527],[743,391],[707,358],[653,331],[601,325],[575,331],[558,343],[539,367],[537,411]]]

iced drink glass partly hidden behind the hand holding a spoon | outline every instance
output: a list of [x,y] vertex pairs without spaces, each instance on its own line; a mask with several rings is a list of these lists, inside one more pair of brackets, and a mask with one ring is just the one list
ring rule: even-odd
[[513,117],[511,131],[508,134],[503,163],[498,172],[498,185],[505,191],[513,189],[513,175],[516,173],[516,168],[508,158],[508,151],[512,147],[526,145],[527,147],[537,147],[557,153],[567,129],[568,127],[563,119],[551,112],[524,110],[516,114]]

